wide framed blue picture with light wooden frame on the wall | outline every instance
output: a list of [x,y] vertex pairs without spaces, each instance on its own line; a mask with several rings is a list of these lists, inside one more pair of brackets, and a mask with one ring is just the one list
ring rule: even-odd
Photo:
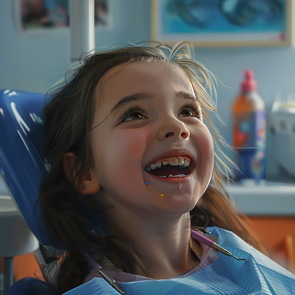
[[286,46],[291,0],[152,0],[151,38],[173,45]]

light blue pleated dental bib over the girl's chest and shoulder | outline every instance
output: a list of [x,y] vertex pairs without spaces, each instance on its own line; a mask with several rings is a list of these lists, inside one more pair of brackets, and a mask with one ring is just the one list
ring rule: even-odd
[[[218,245],[229,250],[236,260],[218,253],[218,259],[187,277],[169,280],[118,283],[126,295],[294,295],[295,276],[254,249],[234,233],[219,227],[208,227],[219,237]],[[118,295],[102,278],[94,278],[64,295]]]

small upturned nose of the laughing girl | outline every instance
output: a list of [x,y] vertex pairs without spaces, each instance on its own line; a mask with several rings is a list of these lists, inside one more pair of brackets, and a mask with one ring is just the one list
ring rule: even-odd
[[186,125],[175,118],[163,122],[163,126],[157,132],[157,139],[162,141],[167,137],[174,137],[177,141],[183,141],[189,137],[189,130]]

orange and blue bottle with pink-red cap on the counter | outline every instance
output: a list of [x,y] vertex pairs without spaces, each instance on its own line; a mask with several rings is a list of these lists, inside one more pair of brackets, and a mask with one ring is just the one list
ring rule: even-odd
[[240,156],[242,172],[238,179],[265,179],[266,113],[253,76],[253,71],[245,71],[241,93],[232,106],[232,143]]

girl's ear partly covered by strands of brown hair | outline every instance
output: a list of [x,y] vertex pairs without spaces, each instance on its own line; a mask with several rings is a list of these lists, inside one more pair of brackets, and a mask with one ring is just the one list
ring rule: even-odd
[[74,153],[66,153],[63,156],[63,170],[68,180],[75,189],[83,195],[90,195],[100,190],[100,183],[94,177],[88,168],[84,169],[83,176],[78,181],[77,171],[81,168],[81,163],[77,163],[77,157]]

